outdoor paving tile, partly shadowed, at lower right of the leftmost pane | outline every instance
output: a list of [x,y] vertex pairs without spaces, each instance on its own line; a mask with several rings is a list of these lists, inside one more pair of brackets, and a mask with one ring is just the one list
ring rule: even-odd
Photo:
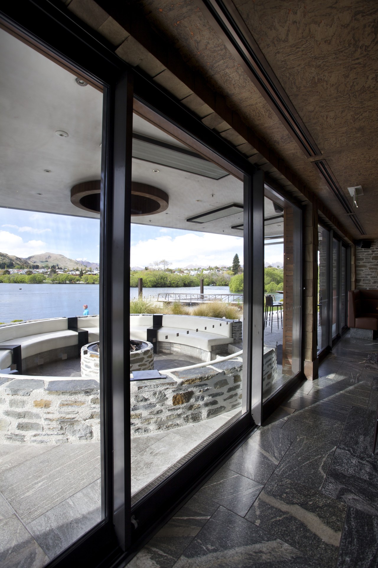
[[54,558],[101,520],[101,483],[91,485],[59,503],[27,525],[49,558]]

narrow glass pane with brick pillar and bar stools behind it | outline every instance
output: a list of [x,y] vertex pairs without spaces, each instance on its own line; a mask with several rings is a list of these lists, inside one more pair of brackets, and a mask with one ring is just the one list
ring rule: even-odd
[[300,371],[301,212],[266,187],[263,400]]

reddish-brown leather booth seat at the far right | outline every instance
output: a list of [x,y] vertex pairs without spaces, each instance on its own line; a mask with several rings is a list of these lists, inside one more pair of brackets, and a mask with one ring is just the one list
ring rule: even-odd
[[378,290],[350,290],[348,325],[358,329],[378,329]]

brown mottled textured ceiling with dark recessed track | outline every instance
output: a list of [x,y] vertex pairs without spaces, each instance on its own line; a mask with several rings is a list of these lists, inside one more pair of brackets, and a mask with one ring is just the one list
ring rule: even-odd
[[[355,238],[354,225],[324,179],[192,0],[140,0],[148,22],[190,68],[223,94],[266,144],[324,201]],[[235,0],[261,51],[327,160],[346,198],[362,185],[358,218],[378,238],[376,2]]]

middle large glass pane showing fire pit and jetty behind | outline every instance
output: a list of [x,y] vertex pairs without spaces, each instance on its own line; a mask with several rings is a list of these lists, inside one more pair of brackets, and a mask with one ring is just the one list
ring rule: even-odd
[[247,410],[243,176],[146,114],[133,115],[132,503]]

